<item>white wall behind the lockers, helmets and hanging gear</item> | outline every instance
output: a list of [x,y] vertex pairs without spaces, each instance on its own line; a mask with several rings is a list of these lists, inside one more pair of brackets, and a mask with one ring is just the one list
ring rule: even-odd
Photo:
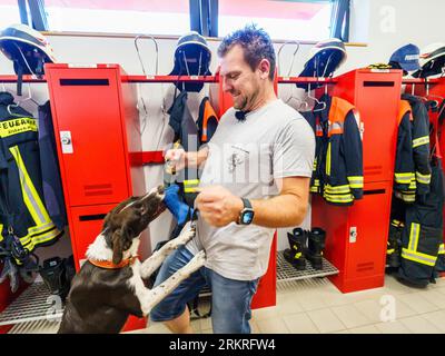
[[[442,16],[445,11],[443,0],[353,0],[352,8],[352,41],[367,42],[367,47],[347,47],[347,62],[337,71],[337,75],[355,68],[366,67],[369,63],[387,62],[392,52],[398,47],[412,42],[418,47],[424,47],[436,41],[445,42],[443,33]],[[130,75],[141,75],[134,40],[127,38],[85,38],[85,37],[60,37],[49,36],[49,41],[53,47],[60,62],[70,63],[120,63]],[[168,73],[172,68],[172,53],[176,40],[159,40],[159,75]],[[211,70],[215,72],[217,67],[216,49],[217,41],[209,41],[214,58]],[[281,44],[276,44],[276,51]],[[149,40],[142,41],[141,55],[148,73],[155,71],[154,47]],[[307,53],[312,46],[301,46],[294,63],[290,75],[296,76],[300,72]],[[287,46],[281,51],[280,75],[288,73],[294,47]],[[0,57],[0,73],[13,73],[12,65],[3,56]],[[8,85],[9,90],[14,90],[14,86]],[[139,91],[148,107],[148,117],[145,118],[146,126],[142,135],[144,149],[156,149],[158,142],[162,147],[171,142],[171,130],[168,127],[168,117],[161,115],[162,98],[167,98],[167,108],[171,105],[171,85],[141,85]],[[0,87],[1,88],[1,87]],[[43,102],[48,97],[44,85],[33,86],[33,97]],[[37,89],[36,89],[37,88]],[[293,92],[290,92],[293,90]],[[279,96],[285,100],[293,96],[301,96],[301,90],[294,86],[280,86]],[[26,90],[24,90],[26,91]],[[208,91],[208,86],[198,96],[201,97]],[[199,101],[195,96],[192,100]],[[26,108],[34,110],[30,105]],[[144,127],[144,118],[141,119]],[[164,129],[162,129],[164,125]],[[161,132],[164,132],[161,135]],[[162,180],[162,167],[146,167],[147,189],[158,185]],[[308,228],[309,220],[304,224]],[[166,239],[171,228],[171,217],[165,212],[150,228],[151,246],[157,241]],[[287,246],[286,230],[279,231],[278,249]],[[55,250],[51,250],[56,249]],[[44,254],[66,255],[69,244],[60,243],[47,249]]]

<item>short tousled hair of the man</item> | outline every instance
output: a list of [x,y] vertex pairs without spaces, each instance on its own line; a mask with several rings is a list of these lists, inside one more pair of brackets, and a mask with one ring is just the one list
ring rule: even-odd
[[224,57],[236,44],[244,51],[244,59],[251,70],[255,70],[261,59],[270,62],[269,79],[274,80],[275,51],[269,34],[256,24],[248,24],[244,29],[227,34],[218,48],[218,56]]

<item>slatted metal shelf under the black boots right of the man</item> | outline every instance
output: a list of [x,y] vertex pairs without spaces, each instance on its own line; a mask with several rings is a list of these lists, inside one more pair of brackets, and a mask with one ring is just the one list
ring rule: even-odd
[[285,259],[284,251],[277,253],[277,283],[314,277],[326,277],[337,274],[338,269],[325,258],[323,258],[323,269],[314,269],[310,263],[306,260],[306,269],[297,270]]

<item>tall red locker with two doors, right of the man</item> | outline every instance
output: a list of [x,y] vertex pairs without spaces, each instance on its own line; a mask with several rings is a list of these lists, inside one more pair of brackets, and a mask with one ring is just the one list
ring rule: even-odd
[[329,278],[348,293],[384,285],[402,71],[359,69],[337,80],[332,95],[353,103],[363,122],[364,198],[336,207],[314,196],[312,225],[326,230],[325,255],[339,270]]

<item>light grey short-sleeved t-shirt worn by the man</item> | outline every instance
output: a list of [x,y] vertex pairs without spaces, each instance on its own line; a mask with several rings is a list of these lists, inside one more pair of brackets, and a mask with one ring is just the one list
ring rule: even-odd
[[[220,185],[236,196],[267,199],[279,194],[274,178],[310,177],[314,131],[280,99],[247,113],[229,109],[209,142],[200,186]],[[253,280],[268,266],[275,229],[235,222],[217,228],[198,218],[197,236],[187,248],[206,251],[206,267],[226,278]]]

